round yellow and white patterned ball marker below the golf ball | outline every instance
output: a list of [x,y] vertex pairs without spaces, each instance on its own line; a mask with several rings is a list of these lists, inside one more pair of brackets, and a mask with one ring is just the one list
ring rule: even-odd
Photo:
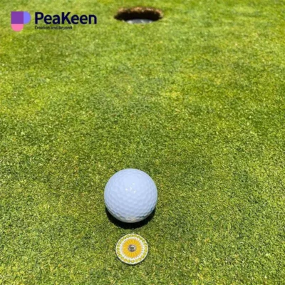
[[126,264],[138,264],[147,257],[147,241],[138,234],[126,234],[116,245],[116,254]]

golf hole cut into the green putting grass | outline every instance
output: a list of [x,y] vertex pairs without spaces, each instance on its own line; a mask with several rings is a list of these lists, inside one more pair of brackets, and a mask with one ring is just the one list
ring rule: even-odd
[[162,17],[162,11],[150,7],[121,8],[115,15],[115,19],[129,24],[149,24]]

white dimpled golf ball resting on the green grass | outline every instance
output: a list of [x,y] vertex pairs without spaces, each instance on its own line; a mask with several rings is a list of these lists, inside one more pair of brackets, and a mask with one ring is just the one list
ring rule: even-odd
[[145,172],[125,169],[115,173],[105,186],[105,205],[122,222],[140,222],[157,203],[155,182]]

